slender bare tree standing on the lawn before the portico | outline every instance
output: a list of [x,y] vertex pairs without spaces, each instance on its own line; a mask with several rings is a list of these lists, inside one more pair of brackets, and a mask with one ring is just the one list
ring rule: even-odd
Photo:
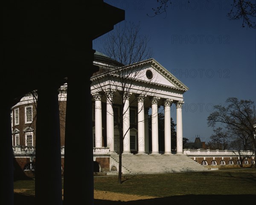
[[[108,33],[107,40],[103,44],[100,52],[104,53],[106,66],[100,66],[99,72],[91,78],[92,87],[105,96],[108,104],[112,107],[119,105],[120,114],[116,115],[107,110],[107,115],[114,115],[115,124],[119,131],[119,174],[118,183],[122,183],[122,153],[123,141],[129,139],[128,131],[132,124],[127,122],[130,104],[137,101],[137,98],[129,99],[131,91],[136,88],[136,95],[145,98],[150,84],[142,85],[144,73],[142,74],[141,61],[151,58],[152,51],[148,48],[149,38],[146,35],[140,35],[140,26],[134,23],[127,23],[122,26],[119,23],[115,29]],[[110,96],[110,91],[113,96]],[[129,105],[127,106],[127,100]],[[144,107],[138,107],[138,113]],[[116,119],[118,118],[118,119]],[[125,124],[125,126],[123,125]],[[113,142],[112,142],[113,143]]]

